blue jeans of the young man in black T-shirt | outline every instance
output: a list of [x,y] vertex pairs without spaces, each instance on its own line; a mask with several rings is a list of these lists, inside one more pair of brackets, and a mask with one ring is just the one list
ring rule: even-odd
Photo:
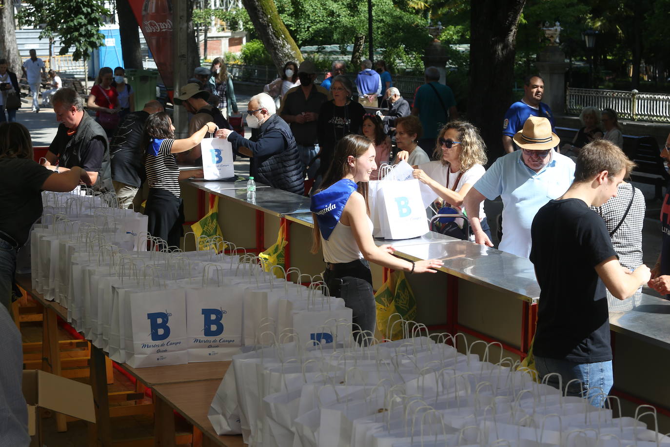
[[[539,378],[542,380],[545,375],[550,373],[559,373],[563,385],[565,386],[572,379],[578,379],[582,383],[574,381],[567,387],[566,395],[586,397],[589,403],[594,407],[602,407],[605,403],[604,396],[610,393],[614,385],[614,375],[612,374],[612,361],[596,363],[575,363],[567,360],[547,359],[547,357],[535,356],[535,367]],[[556,375],[547,377],[547,385],[559,389],[559,379]]]

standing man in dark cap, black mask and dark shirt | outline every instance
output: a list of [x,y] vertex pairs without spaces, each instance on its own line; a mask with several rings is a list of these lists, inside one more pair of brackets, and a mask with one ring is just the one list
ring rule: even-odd
[[[291,132],[297,143],[300,161],[307,168],[316,154],[317,120],[321,105],[328,101],[328,91],[314,84],[316,66],[311,60],[305,60],[297,70],[300,85],[291,88],[281,101],[279,116],[291,126]],[[312,166],[310,178],[314,178],[318,166]]]

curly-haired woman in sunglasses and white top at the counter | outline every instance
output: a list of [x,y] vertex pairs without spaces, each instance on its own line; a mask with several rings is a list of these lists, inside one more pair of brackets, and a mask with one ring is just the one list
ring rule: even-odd
[[[435,162],[414,166],[414,178],[430,186],[438,194],[433,206],[435,210],[448,207],[461,212],[464,210],[463,198],[472,185],[484,175],[486,170],[486,145],[479,130],[467,121],[450,121],[438,133],[438,145],[433,157]],[[482,231],[490,239],[491,233],[484,214],[484,202],[480,204],[479,219]],[[457,219],[456,223],[462,227]],[[436,231],[443,232],[438,222]],[[454,235],[464,239],[466,235]]]

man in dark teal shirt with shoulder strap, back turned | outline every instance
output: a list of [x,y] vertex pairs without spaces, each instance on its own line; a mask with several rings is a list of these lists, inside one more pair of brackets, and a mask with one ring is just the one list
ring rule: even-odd
[[419,139],[419,147],[426,153],[433,153],[440,127],[459,117],[454,92],[440,84],[440,70],[437,68],[425,69],[425,84],[414,95],[412,115],[421,120],[423,137]]

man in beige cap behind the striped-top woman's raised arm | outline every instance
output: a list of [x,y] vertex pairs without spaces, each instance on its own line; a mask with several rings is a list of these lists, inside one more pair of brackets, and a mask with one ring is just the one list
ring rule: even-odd
[[[207,72],[209,73],[208,69]],[[193,115],[190,121],[188,121],[189,135],[193,135],[199,129],[202,129],[202,126],[209,121],[215,123],[219,129],[232,130],[232,126],[228,123],[228,120],[224,118],[221,111],[207,102],[210,96],[210,92],[200,90],[200,86],[192,82],[180,88],[179,96],[174,97],[175,105],[183,105],[184,109]],[[205,137],[210,138],[211,135],[208,134]],[[199,164],[200,143],[193,147],[193,149],[182,152],[179,155],[178,161],[181,164]]]

